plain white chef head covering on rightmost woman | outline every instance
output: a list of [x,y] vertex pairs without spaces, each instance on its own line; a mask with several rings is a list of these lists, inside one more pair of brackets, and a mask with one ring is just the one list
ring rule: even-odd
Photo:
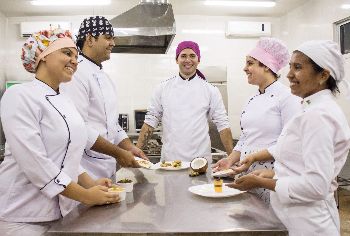
[[343,81],[344,86],[348,89],[346,99],[350,100],[350,84],[343,80],[346,71],[345,60],[337,43],[331,40],[311,40],[304,42],[295,50],[307,55],[323,69],[329,70],[337,85]]

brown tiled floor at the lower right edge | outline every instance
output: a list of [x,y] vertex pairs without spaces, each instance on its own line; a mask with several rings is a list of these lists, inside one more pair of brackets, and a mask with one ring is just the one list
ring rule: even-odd
[[339,218],[341,236],[350,236],[350,191],[339,188]]

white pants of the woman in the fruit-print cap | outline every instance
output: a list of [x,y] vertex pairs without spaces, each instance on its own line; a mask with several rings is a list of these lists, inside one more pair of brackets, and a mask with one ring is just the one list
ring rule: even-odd
[[1,236],[44,236],[58,220],[47,222],[0,221]]

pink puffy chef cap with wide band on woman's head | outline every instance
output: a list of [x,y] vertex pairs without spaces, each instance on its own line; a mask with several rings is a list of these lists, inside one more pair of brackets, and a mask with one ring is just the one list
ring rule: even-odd
[[290,60],[286,43],[282,40],[267,37],[261,37],[255,48],[248,53],[248,56],[260,61],[276,74]]

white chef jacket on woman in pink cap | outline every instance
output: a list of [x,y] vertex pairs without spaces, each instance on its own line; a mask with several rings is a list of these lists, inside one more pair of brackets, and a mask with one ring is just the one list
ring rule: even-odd
[[248,97],[244,104],[240,125],[241,135],[233,150],[242,146],[271,146],[273,152],[283,126],[301,110],[301,98],[290,93],[290,88],[276,80]]

